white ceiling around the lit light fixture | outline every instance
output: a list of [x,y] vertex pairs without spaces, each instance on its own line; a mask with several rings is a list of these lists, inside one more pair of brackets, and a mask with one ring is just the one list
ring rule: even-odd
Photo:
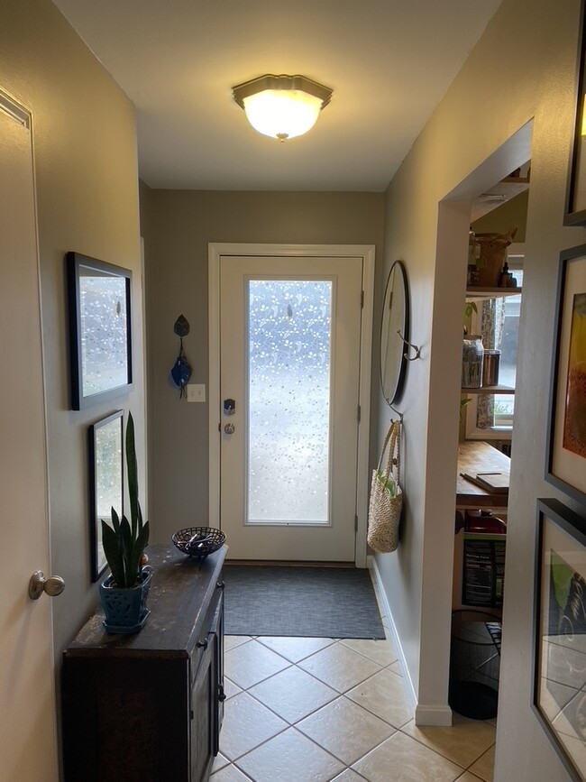
[[[501,0],[53,2],[136,106],[151,188],[381,191]],[[334,89],[307,135],[246,122],[231,87],[263,73]]]

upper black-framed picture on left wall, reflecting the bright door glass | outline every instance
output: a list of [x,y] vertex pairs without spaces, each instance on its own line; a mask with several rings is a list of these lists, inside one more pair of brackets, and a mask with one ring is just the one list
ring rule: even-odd
[[133,385],[128,269],[67,253],[71,408],[130,391]]

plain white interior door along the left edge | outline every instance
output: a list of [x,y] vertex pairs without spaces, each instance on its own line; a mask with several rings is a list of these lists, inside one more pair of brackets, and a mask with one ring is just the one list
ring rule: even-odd
[[0,91],[0,777],[57,779],[41,313],[30,116]]

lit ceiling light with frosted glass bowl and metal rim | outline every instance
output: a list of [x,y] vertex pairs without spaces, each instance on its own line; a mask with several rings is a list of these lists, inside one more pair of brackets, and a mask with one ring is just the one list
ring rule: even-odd
[[307,133],[332,97],[329,87],[306,76],[271,73],[238,84],[232,90],[252,127],[279,142]]

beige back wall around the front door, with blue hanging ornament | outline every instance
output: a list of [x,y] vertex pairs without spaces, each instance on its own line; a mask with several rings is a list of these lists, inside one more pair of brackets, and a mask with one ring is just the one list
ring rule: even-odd
[[179,400],[169,375],[179,352],[173,324],[183,314],[191,326],[183,340],[191,382],[207,386],[207,244],[375,244],[380,253],[383,202],[381,193],[196,192],[142,185],[155,538],[167,540],[176,529],[207,518],[208,406]]

